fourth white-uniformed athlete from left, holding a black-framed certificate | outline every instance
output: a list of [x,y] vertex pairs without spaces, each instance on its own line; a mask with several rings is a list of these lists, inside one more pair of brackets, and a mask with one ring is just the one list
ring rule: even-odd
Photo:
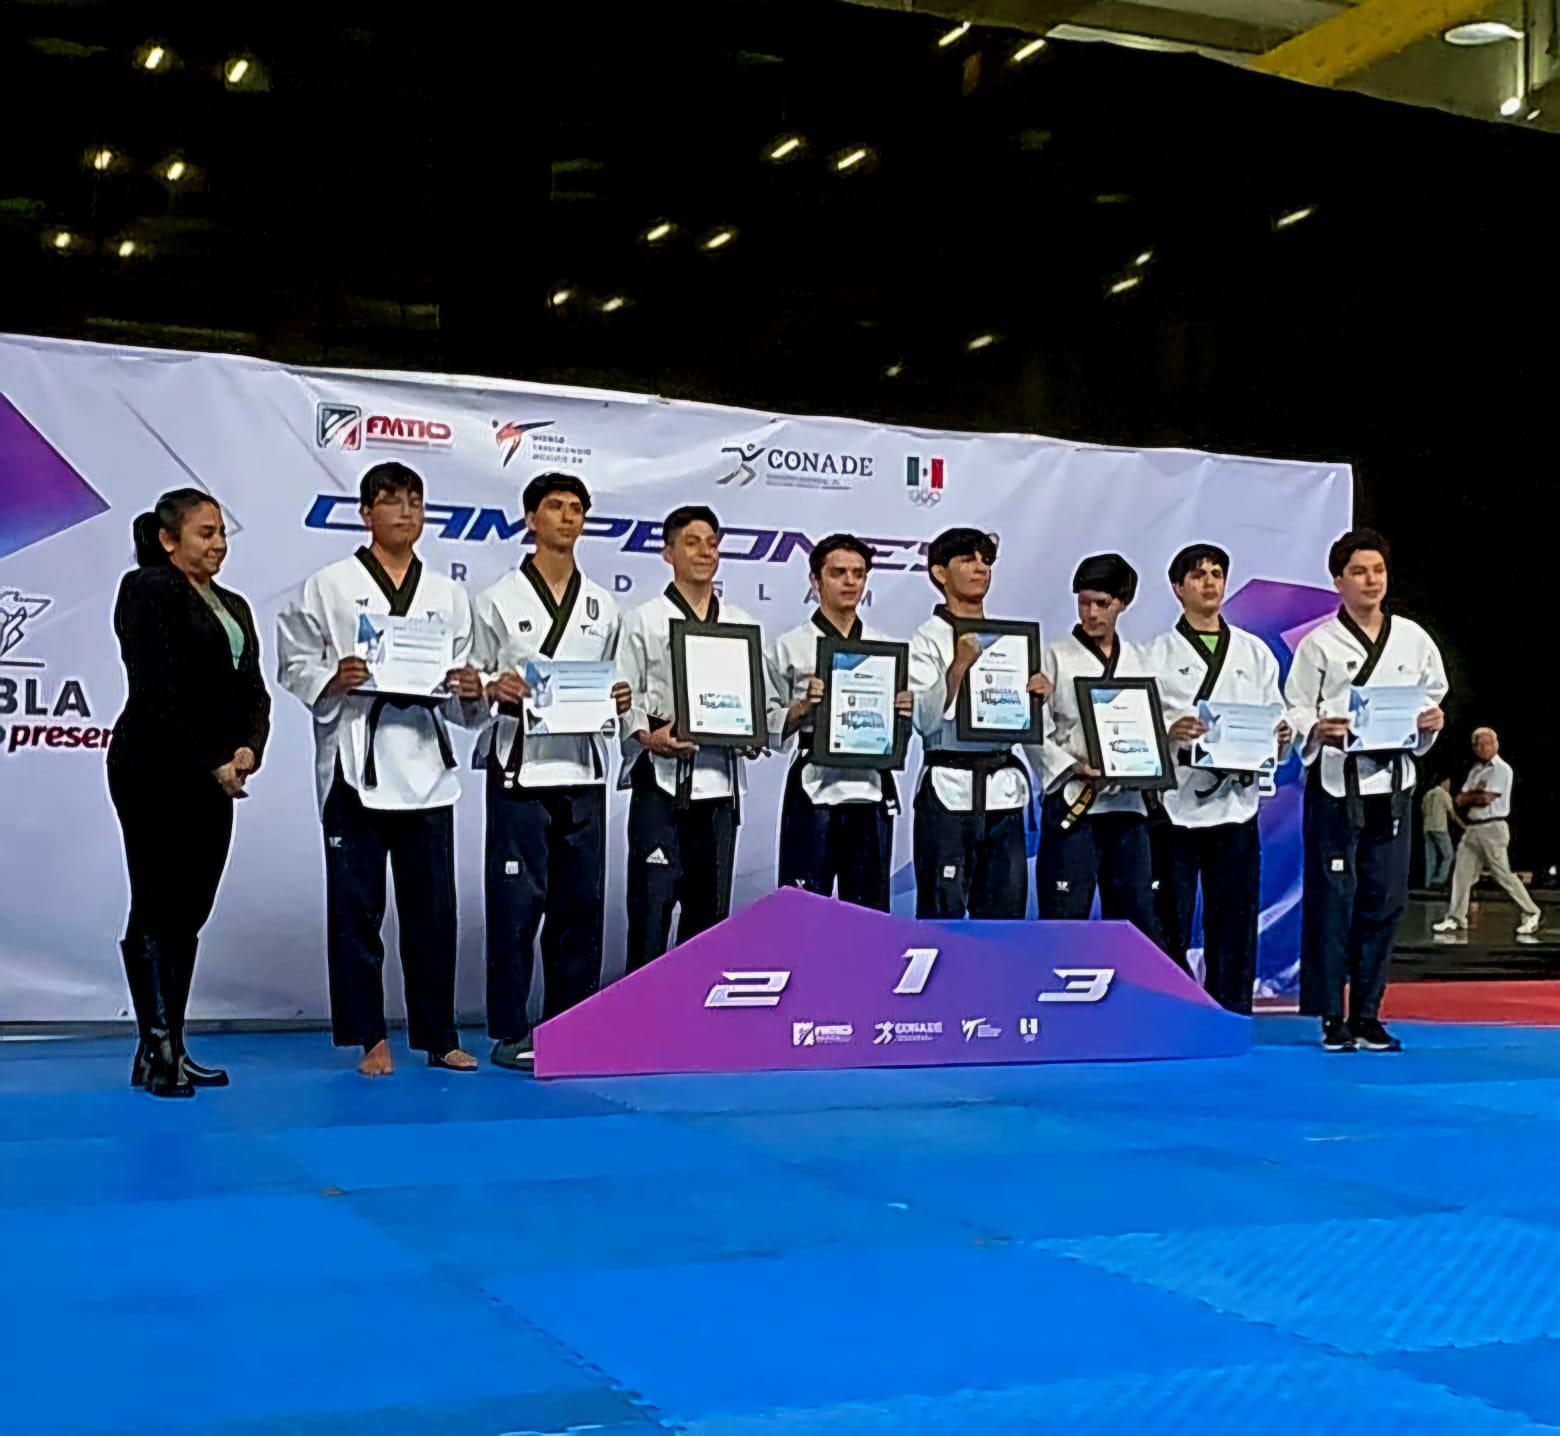
[[[771,647],[769,734],[794,759],[780,808],[780,886],[888,912],[899,792],[891,772],[827,767],[813,761],[813,716],[824,700],[817,645],[824,638],[883,642],[856,611],[872,571],[872,549],[853,533],[819,539],[808,557],[817,608]],[[895,695],[895,714],[909,719],[911,695]]]

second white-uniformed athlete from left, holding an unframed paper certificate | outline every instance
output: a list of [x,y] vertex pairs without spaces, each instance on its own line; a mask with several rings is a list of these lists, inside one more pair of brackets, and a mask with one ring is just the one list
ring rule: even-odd
[[[607,859],[607,739],[529,734],[526,674],[537,660],[618,658],[618,603],[574,561],[590,491],[574,474],[538,474],[521,496],[535,539],[476,602],[476,664],[498,716],[477,741],[487,772],[487,1009],[496,1066],[532,1062],[530,982],[541,934],[546,1021],[601,984]],[[629,688],[616,684],[619,711]]]

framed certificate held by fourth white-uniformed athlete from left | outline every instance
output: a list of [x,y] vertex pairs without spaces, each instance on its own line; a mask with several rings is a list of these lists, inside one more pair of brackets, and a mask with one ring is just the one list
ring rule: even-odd
[[824,702],[813,717],[813,762],[902,769],[909,719],[894,711],[894,699],[909,688],[909,649],[866,638],[821,638],[817,677]]

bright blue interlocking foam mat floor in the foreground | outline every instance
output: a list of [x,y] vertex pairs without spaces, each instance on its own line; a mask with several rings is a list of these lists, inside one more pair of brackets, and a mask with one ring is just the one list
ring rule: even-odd
[[0,1042],[0,1430],[1560,1436],[1560,1031],[1399,1031],[568,1084],[207,1037],[192,1102]]

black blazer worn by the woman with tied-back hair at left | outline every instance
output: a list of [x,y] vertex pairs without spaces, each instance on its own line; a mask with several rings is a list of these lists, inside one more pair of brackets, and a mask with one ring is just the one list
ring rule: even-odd
[[176,568],[133,569],[120,582],[114,631],[128,692],[109,748],[120,762],[211,773],[253,748],[259,766],[271,697],[254,617],[232,589],[212,583],[212,592],[243,630],[237,667],[217,616]]

